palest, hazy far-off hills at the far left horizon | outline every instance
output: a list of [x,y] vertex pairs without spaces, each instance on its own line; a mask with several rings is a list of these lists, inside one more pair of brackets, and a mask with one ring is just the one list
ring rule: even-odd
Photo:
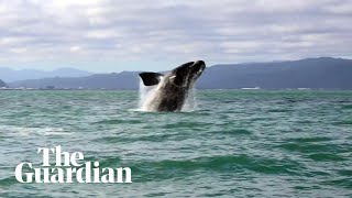
[[0,67],[0,79],[11,82],[25,79],[40,79],[50,77],[84,77],[92,75],[91,73],[74,69],[74,68],[59,68],[52,72],[43,72],[36,69],[22,69],[14,70],[8,67]]

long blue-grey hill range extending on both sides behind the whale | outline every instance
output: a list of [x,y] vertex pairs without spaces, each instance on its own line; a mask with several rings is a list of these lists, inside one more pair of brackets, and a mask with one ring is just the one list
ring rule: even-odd
[[[138,89],[138,72],[100,74],[79,78],[44,78],[10,84],[11,87]],[[352,89],[352,61],[308,58],[289,62],[215,65],[199,78],[200,89],[312,88]]]

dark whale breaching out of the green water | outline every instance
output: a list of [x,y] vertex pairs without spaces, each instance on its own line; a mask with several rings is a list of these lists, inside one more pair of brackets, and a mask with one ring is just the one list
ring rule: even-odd
[[206,68],[204,61],[185,63],[168,74],[141,73],[145,86],[156,86],[153,95],[143,101],[146,111],[180,111],[189,89]]

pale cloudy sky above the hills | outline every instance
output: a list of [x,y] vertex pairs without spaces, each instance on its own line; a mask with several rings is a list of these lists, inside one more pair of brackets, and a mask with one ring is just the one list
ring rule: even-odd
[[352,58],[352,0],[0,0],[0,67]]

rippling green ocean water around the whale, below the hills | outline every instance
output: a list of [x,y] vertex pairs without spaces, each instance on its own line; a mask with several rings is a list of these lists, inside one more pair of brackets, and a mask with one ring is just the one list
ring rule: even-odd
[[[351,197],[352,91],[198,90],[189,112],[138,91],[0,91],[0,197]],[[131,167],[132,184],[20,184],[37,147]]]

